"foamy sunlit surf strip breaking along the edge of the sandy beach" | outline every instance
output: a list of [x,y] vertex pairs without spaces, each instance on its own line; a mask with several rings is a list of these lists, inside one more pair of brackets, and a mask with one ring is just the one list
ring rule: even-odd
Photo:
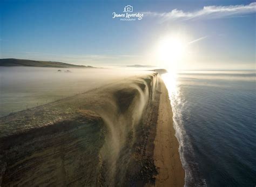
[[[186,111],[186,101],[181,96],[181,90],[173,80],[173,75],[161,75],[169,92],[173,112],[173,127],[179,142],[180,160],[185,170],[185,186],[206,186],[206,180],[200,175],[198,163],[194,158],[194,150],[190,138],[184,129],[183,113]],[[171,84],[170,84],[171,81]]]

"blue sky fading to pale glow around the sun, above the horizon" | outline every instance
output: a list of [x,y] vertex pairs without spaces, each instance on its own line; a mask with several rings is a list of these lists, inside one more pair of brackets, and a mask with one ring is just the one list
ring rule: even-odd
[[[127,5],[142,19],[113,18],[130,13]],[[1,0],[0,58],[166,66],[173,62],[159,58],[160,41],[174,37],[183,51],[164,51],[179,53],[181,70],[255,70],[255,16],[256,2],[246,0]]]

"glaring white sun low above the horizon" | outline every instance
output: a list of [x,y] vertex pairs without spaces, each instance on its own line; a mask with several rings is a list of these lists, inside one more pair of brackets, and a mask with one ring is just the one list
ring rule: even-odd
[[161,65],[176,70],[185,55],[185,42],[179,36],[164,37],[159,41],[157,56]]

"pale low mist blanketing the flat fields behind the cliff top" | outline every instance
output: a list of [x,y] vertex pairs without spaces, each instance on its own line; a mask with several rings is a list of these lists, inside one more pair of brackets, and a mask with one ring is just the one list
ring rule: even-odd
[[1,67],[0,116],[89,91],[148,71],[134,68]]

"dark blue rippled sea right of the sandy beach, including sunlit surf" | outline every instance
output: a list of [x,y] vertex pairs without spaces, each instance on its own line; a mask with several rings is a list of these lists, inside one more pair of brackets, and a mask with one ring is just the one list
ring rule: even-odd
[[186,186],[256,186],[255,72],[166,73]]

